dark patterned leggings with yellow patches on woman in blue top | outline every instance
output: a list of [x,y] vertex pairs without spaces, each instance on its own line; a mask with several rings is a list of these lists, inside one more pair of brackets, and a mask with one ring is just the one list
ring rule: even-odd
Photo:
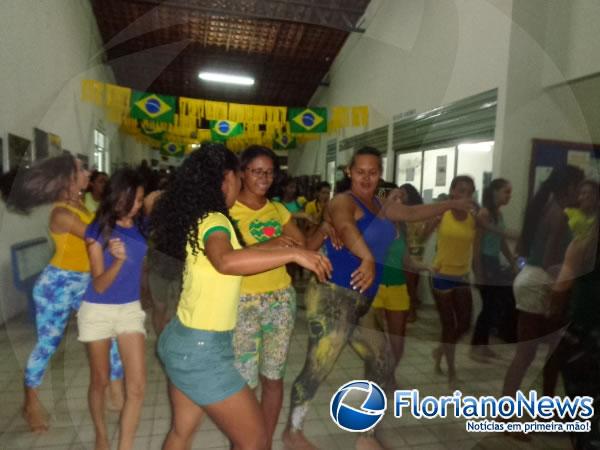
[[[371,300],[358,292],[314,280],[305,295],[308,352],[292,387],[290,424],[301,430],[310,400],[349,343],[365,361],[365,379],[384,387],[393,374],[390,342],[376,327]],[[350,380],[348,380],[350,381]]]

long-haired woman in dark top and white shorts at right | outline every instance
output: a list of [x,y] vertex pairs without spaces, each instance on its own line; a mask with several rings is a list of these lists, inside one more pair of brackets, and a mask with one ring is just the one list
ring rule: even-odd
[[[513,285],[518,310],[518,343],[504,377],[503,395],[515,395],[541,342],[549,344],[549,355],[556,346],[558,337],[554,331],[558,324],[548,320],[550,293],[571,241],[564,210],[577,204],[577,188],[582,180],[583,172],[576,167],[553,169],[525,210],[517,253],[527,259],[527,264]],[[545,365],[544,395],[554,395],[557,369],[552,364]]]

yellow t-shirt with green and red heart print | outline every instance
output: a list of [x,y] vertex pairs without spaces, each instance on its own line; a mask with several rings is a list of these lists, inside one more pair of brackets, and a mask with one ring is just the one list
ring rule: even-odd
[[[238,230],[244,237],[246,245],[254,245],[281,236],[283,227],[290,221],[292,215],[278,202],[267,201],[258,210],[235,202],[229,210]],[[262,294],[264,292],[285,289],[292,280],[285,266],[267,272],[244,277],[242,280],[242,295]]]

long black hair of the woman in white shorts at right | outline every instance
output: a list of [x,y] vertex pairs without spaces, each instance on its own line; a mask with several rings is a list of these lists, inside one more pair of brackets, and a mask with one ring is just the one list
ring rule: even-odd
[[577,186],[583,179],[583,171],[574,166],[556,167],[550,176],[540,185],[535,195],[529,200],[525,209],[525,220],[521,237],[517,243],[517,253],[529,257],[535,233],[538,232],[540,221],[544,216],[544,208],[551,196],[560,197],[569,189]]

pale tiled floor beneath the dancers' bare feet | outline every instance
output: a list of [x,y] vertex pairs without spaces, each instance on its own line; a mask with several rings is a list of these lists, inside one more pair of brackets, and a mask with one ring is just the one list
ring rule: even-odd
[[[444,377],[432,370],[431,350],[438,337],[439,322],[431,307],[420,311],[419,320],[409,325],[406,354],[397,371],[401,388],[418,388],[421,395],[451,393]],[[49,432],[38,436],[26,430],[20,415],[22,405],[22,369],[33,345],[34,331],[26,320],[13,320],[0,330],[0,450],[9,449],[92,449],[93,428],[87,411],[89,370],[83,346],[76,340],[75,323],[69,327],[67,339],[52,363],[41,390],[42,399],[52,416]],[[169,428],[170,409],[165,377],[154,355],[155,337],[147,341],[148,388],[136,448],[160,449]],[[283,448],[279,437],[287,417],[289,391],[294,377],[304,362],[307,338],[302,311],[296,324],[289,356],[284,410],[276,432],[274,448]],[[493,364],[480,364],[467,357],[468,346],[458,348],[459,377],[463,393],[497,395],[506,372],[512,348],[496,345],[503,359]],[[526,379],[524,388],[539,385],[538,359]],[[347,348],[334,371],[319,390],[309,413],[305,432],[321,449],[354,448],[355,436],[337,428],[329,417],[331,395],[345,382],[362,378],[362,362]],[[117,415],[108,413],[108,421],[116,438]],[[569,449],[566,435],[536,434],[530,442],[519,442],[493,433],[467,433],[457,419],[395,419],[388,413],[378,429],[380,440],[394,449]],[[115,445],[115,439],[113,439]],[[116,448],[116,447],[115,447]],[[206,420],[197,434],[195,449],[228,449],[228,442],[216,427]]]

